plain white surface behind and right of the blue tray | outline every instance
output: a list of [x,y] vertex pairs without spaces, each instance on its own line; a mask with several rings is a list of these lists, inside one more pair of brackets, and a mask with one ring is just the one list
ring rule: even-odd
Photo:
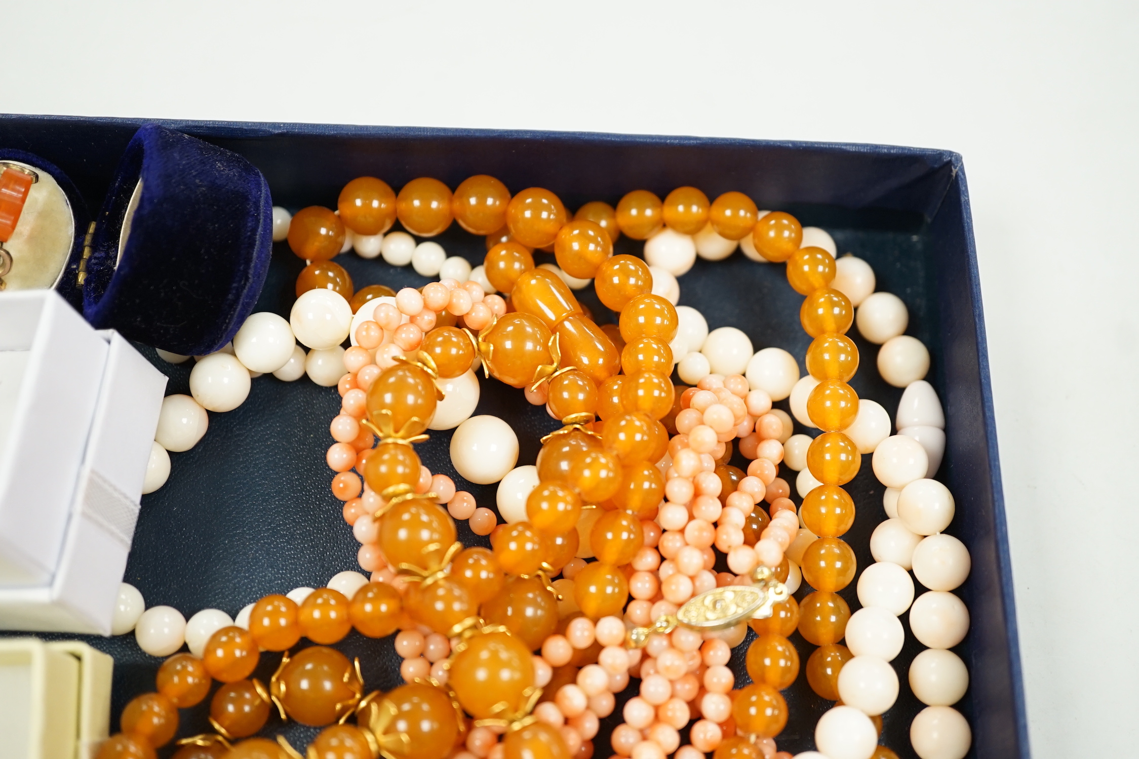
[[1033,754],[1134,750],[1136,3],[7,0],[0,18],[0,112],[961,152]]

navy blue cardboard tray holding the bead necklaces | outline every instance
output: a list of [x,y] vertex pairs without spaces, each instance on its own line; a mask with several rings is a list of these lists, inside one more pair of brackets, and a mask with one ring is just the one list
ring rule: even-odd
[[[98,208],[115,165],[144,121],[44,116],[0,116],[0,146],[26,150],[55,163],[74,181],[89,207]],[[909,335],[932,355],[927,379],[945,407],[948,446],[937,478],[957,500],[947,530],[968,546],[973,571],[958,594],[972,617],[966,640],[954,649],[969,668],[970,684],[957,708],[973,727],[969,756],[1027,759],[1029,741],[1014,609],[1011,563],[1001,495],[989,361],[961,157],[947,150],[866,145],[827,145],[681,137],[593,133],[392,129],[309,124],[159,122],[235,150],[269,181],[273,203],[296,211],[309,205],[335,207],[349,180],[371,174],[393,188],[416,176],[434,176],[454,188],[472,174],[498,176],[511,191],[541,185],[576,208],[589,200],[616,204],[629,190],[649,189],[663,197],[693,184],[710,197],[727,190],[751,196],[761,208],[795,214],[804,225],[822,226],[838,244],[875,269],[878,289],[901,297],[910,313]],[[171,209],[177,213],[177,209]],[[482,238],[452,225],[435,238],[449,255],[473,264],[485,253]],[[639,254],[641,244],[622,238],[618,253]],[[552,256],[550,256],[552,259]],[[385,283],[399,289],[427,280],[410,267],[353,254],[337,258],[357,288]],[[256,311],[288,316],[294,281],[303,266],[287,245],[278,244]],[[680,278],[680,303],[699,308],[711,328],[732,325],[755,348],[778,346],[803,356],[810,338],[798,325],[800,296],[787,286],[784,266],[756,264],[740,253],[722,262],[698,261]],[[598,321],[612,320],[591,288],[579,296]],[[882,403],[893,418],[901,390],[875,369],[877,346],[851,330],[862,371],[852,381],[861,397]],[[188,393],[190,364],[171,365],[144,350],[171,378],[170,393]],[[511,422],[518,431],[518,464],[533,463],[538,439],[557,427],[543,410],[522,403],[518,391],[484,381],[476,413]],[[777,404],[786,409],[786,402]],[[147,605],[170,604],[187,618],[204,608],[236,614],[267,593],[301,585],[319,587],[334,574],[359,569],[357,543],[328,488],[325,451],[328,422],[339,407],[330,388],[302,379],[254,381],[248,401],[227,414],[211,414],[210,431],[194,449],[174,454],[169,482],[142,498],[142,513],[126,569],[126,581]],[[810,431],[810,430],[796,430]],[[494,506],[494,486],[467,484],[448,455],[450,431],[436,432],[419,447],[432,471],[448,473],[481,505]],[[737,453],[738,456],[738,453]],[[739,462],[737,462],[739,463]],[[858,519],[846,539],[860,567],[872,561],[869,535],[885,519],[883,486],[865,462],[850,484]],[[785,477],[787,477],[785,475]],[[788,478],[794,482],[793,477]],[[796,502],[797,496],[794,496]],[[459,539],[486,545],[460,525]],[[857,583],[843,592],[858,609]],[[918,593],[923,588],[918,586]],[[805,591],[800,591],[803,595]],[[903,622],[907,620],[903,616]],[[898,703],[884,715],[882,743],[913,757],[909,725],[921,709],[909,691],[909,662],[923,646],[907,627],[907,642],[893,666],[901,683]],[[749,633],[749,635],[753,635]],[[44,637],[73,637],[46,635]],[[161,661],[142,653],[133,636],[85,638],[116,660],[113,731],[125,703],[154,688]],[[805,661],[813,646],[792,638]],[[391,640],[350,634],[338,647],[360,657],[369,690],[400,683]],[[737,686],[747,682],[737,649]],[[268,680],[277,654],[264,654],[256,676]],[[813,748],[818,717],[830,707],[801,675],[785,692],[790,720],[777,739],[781,750]],[[179,735],[208,732],[208,699],[182,710]],[[607,732],[620,721],[603,720],[595,757],[609,756]],[[304,745],[316,731],[270,719],[263,734],[280,733]],[[164,756],[172,752],[167,746]]]

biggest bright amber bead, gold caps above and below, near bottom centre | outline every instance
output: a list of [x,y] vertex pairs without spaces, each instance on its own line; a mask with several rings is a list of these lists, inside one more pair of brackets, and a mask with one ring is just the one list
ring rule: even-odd
[[469,638],[467,647],[451,660],[448,676],[467,713],[475,719],[499,717],[494,710],[499,703],[507,704],[508,713],[517,711],[524,693],[534,686],[531,651],[522,640],[507,633]]

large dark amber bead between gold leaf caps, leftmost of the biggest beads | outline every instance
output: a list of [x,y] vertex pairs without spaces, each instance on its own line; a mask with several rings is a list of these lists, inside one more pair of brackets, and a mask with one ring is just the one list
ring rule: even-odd
[[347,657],[322,645],[297,651],[277,675],[285,713],[302,725],[331,725],[354,704],[362,684]]

